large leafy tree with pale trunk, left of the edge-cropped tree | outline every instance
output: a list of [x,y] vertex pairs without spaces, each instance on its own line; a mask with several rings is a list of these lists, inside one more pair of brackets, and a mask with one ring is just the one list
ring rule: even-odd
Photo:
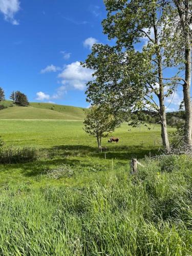
[[147,107],[157,111],[163,145],[169,152],[164,97],[173,93],[181,78],[177,72],[171,77],[163,72],[171,63],[164,54],[166,34],[172,29],[165,26],[169,18],[164,11],[166,5],[154,0],[104,3],[108,15],[102,22],[103,31],[116,43],[115,47],[95,45],[86,60],[85,66],[94,69],[96,77],[88,83],[88,98],[113,100],[116,107],[132,105],[132,109]]

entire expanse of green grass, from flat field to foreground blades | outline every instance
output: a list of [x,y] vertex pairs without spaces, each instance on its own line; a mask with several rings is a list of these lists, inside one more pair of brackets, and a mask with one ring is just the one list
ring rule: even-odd
[[191,159],[145,157],[159,154],[159,125],[122,124],[105,160],[80,120],[0,122],[5,146],[39,154],[0,165],[0,254],[192,254]]

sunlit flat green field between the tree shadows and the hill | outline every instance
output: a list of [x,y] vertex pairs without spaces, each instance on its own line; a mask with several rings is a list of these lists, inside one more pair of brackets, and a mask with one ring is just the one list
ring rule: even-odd
[[[1,120],[0,134],[7,145],[49,147],[58,145],[84,145],[96,147],[96,139],[83,131],[83,123],[78,120]],[[119,137],[119,143],[108,144],[103,138],[103,145],[110,148],[118,146],[138,146],[154,148],[161,146],[160,125],[132,128],[123,123],[112,134]],[[129,131],[131,129],[131,131]],[[174,128],[169,128],[174,131]],[[110,137],[111,135],[109,135]],[[144,145],[143,145],[144,141]]]

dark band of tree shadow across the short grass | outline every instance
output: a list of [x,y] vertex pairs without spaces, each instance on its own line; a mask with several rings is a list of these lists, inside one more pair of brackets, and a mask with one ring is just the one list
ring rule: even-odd
[[[158,148],[148,148],[143,146],[113,146],[108,148],[106,152],[100,152],[98,148],[86,145],[60,145],[56,147],[48,148],[48,156],[44,159],[39,159],[31,163],[18,163],[4,165],[0,172],[10,171],[13,169],[20,169],[20,172],[26,177],[35,177],[44,175],[51,168],[54,168],[60,164],[69,164],[72,168],[77,170],[93,169],[95,165],[98,167],[103,166],[101,160],[104,159],[116,159],[117,161],[130,160],[134,158],[144,158],[145,156],[158,155]],[[53,154],[54,153],[54,154]],[[51,155],[52,157],[50,157]],[[69,157],[81,157],[78,159],[70,159]],[[89,159],[88,157],[91,157]],[[96,162],[92,161],[95,158]],[[107,164],[107,162],[106,162]],[[123,162],[119,162],[123,164]],[[105,165],[105,163],[104,163]]]

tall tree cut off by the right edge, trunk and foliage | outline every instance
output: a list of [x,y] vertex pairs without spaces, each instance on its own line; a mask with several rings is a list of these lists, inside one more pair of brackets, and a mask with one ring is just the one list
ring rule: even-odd
[[164,13],[168,17],[165,27],[166,46],[164,54],[167,65],[184,71],[179,79],[183,88],[185,106],[185,145],[192,149],[192,109],[190,99],[191,86],[191,45],[192,45],[192,1],[164,0]]

